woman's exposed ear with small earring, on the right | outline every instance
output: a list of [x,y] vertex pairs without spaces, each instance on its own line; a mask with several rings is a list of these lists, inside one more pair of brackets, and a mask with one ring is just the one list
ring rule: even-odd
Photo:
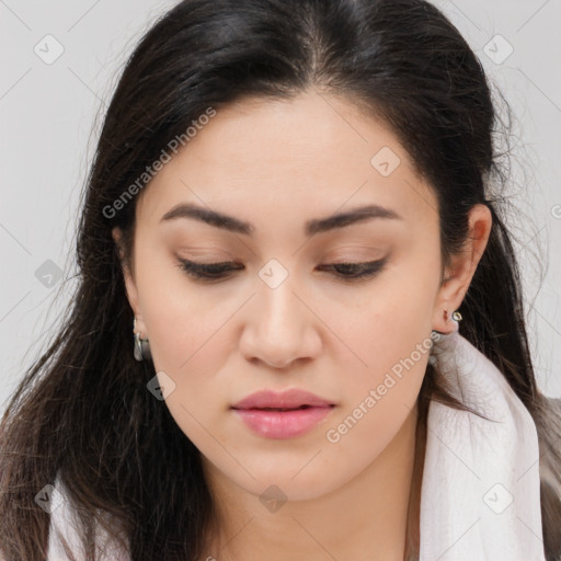
[[438,290],[434,313],[433,330],[450,333],[449,317],[457,310],[468,291],[479,261],[483,255],[493,217],[486,205],[474,205],[469,213],[469,234],[459,254],[451,257],[450,266],[445,271],[443,284]]

